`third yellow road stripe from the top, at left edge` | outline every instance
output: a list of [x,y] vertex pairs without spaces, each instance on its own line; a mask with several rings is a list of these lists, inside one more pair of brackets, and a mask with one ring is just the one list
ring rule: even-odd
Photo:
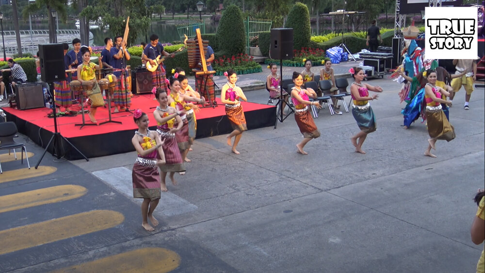
[[61,185],[0,196],[0,212],[25,209],[78,198],[88,190],[79,185]]

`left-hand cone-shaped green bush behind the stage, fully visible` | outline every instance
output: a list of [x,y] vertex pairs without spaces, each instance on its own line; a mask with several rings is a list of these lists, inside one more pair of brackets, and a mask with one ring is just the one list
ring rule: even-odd
[[245,52],[246,33],[239,7],[230,5],[226,8],[219,21],[216,34],[219,51],[225,52],[228,56]]

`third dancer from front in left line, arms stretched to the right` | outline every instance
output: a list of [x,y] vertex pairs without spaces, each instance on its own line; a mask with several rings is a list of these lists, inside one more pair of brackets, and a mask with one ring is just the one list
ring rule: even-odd
[[[170,80],[167,80],[168,87],[170,88],[170,96],[168,96],[168,104],[170,107],[175,108],[180,112],[180,118],[182,119],[183,126],[180,130],[175,133],[177,139],[178,148],[180,149],[180,154],[182,159],[185,161],[187,157],[187,152],[189,152],[189,120],[192,119],[194,115],[194,104],[188,105],[186,101],[198,102],[200,104],[205,103],[204,97],[196,98],[187,95],[180,94],[180,81],[177,79],[178,73],[174,74]],[[188,108],[185,112],[185,108]],[[198,108],[198,107],[197,107]],[[195,137],[195,136],[194,136]],[[190,160],[189,160],[190,161]]]

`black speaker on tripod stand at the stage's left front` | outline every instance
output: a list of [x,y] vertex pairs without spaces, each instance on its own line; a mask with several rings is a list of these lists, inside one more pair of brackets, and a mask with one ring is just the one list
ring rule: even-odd
[[63,44],[39,45],[39,59],[42,81],[65,80]]

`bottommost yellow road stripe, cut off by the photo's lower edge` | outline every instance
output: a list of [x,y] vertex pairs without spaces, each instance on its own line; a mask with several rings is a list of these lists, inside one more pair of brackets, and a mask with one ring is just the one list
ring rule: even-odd
[[52,273],[165,273],[180,265],[177,253],[160,247],[141,248],[95,261],[81,263]]

